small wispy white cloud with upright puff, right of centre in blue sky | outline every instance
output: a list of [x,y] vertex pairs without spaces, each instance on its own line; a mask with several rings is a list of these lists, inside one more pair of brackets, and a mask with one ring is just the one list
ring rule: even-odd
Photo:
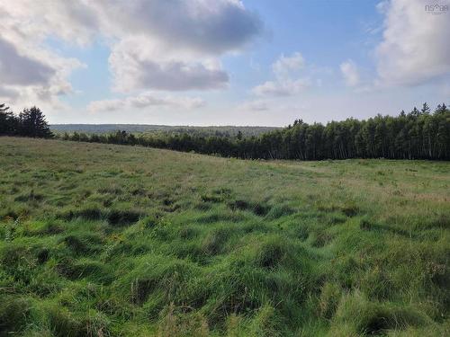
[[309,78],[298,77],[297,73],[304,66],[304,59],[300,52],[290,57],[282,55],[272,65],[275,81],[266,81],[252,89],[258,96],[292,96],[301,93],[311,85]]

